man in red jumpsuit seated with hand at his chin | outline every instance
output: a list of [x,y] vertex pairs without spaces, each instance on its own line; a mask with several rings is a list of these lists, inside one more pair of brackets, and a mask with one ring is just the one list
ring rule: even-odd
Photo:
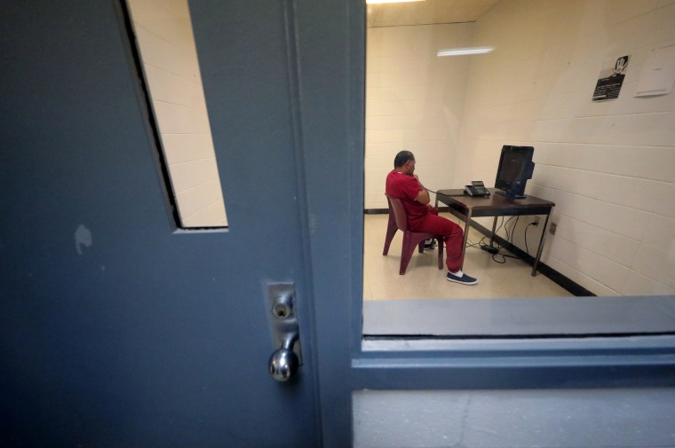
[[438,216],[438,210],[429,205],[429,192],[419,182],[415,174],[415,156],[409,151],[401,151],[393,160],[393,170],[386,177],[386,194],[398,198],[408,213],[408,228],[413,232],[429,232],[442,235],[445,241],[448,266],[446,279],[463,285],[475,285],[477,279],[466,275],[462,266],[462,228]]

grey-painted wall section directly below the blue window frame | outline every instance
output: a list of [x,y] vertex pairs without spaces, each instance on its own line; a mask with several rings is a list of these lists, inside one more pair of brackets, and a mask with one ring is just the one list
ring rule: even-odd
[[363,390],[356,448],[665,448],[675,389]]

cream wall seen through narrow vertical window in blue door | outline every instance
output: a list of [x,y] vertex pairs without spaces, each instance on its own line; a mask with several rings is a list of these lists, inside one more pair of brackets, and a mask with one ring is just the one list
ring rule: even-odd
[[183,227],[226,226],[187,0],[129,0]]

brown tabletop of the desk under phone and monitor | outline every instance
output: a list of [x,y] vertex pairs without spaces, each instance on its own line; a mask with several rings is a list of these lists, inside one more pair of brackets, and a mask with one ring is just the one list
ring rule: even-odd
[[551,200],[527,196],[524,199],[511,199],[500,190],[489,188],[489,197],[476,197],[464,194],[463,190],[439,190],[436,199],[451,208],[471,210],[473,216],[498,215],[545,215],[551,213],[555,203]]

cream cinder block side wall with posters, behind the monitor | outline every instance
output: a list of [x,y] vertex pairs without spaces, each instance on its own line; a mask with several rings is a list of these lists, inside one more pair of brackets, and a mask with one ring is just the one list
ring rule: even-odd
[[[496,51],[468,58],[457,143],[449,139],[448,153],[431,153],[432,161],[417,156],[443,165],[433,173],[422,165],[420,177],[433,179],[426,186],[494,185],[502,145],[533,145],[527,193],[556,202],[558,229],[547,236],[544,263],[596,295],[675,294],[675,92],[633,97],[651,49],[675,43],[675,2],[502,0],[473,25],[471,43]],[[631,61],[620,97],[592,103],[603,63],[624,54]],[[370,88],[367,95],[372,114]],[[372,159],[372,132],[367,125],[366,208],[376,208],[368,194],[391,165]],[[514,242],[524,249],[523,221]],[[530,254],[538,229],[528,230]]]

